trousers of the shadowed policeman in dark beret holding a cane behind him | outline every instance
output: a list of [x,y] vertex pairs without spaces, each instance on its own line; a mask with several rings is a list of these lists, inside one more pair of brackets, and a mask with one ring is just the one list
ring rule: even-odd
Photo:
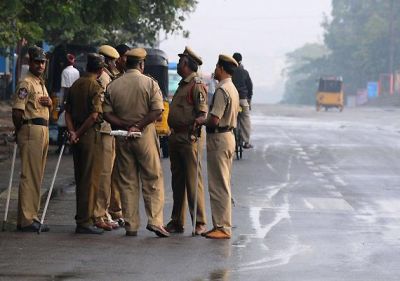
[[90,128],[72,146],[76,182],[76,224],[90,226],[94,222],[94,206],[103,169],[103,146],[100,132]]

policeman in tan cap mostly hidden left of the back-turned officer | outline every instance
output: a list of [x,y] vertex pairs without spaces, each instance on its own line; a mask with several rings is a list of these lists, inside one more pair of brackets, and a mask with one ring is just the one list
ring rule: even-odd
[[[119,53],[109,45],[102,45],[99,48],[99,54],[105,58],[105,67],[99,77],[99,82],[104,91],[108,84],[118,75],[115,67],[115,61],[119,59]],[[115,140],[110,135],[111,126],[103,121],[100,128],[101,140],[103,143],[103,170],[100,176],[100,186],[96,195],[96,204],[94,215],[96,217],[95,225],[104,230],[118,228],[118,223],[113,219],[119,220],[123,224],[121,212],[121,199],[117,186],[111,182],[111,174],[115,159]]]

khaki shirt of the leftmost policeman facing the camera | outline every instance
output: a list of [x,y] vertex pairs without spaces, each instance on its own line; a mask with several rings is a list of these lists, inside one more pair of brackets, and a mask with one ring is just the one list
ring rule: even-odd
[[18,82],[13,109],[24,111],[23,119],[43,118],[49,120],[49,108],[39,103],[39,98],[48,96],[43,79],[32,72]]

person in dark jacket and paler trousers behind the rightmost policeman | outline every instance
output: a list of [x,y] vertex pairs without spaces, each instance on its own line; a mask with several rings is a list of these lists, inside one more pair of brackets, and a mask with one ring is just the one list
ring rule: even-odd
[[234,53],[233,58],[239,64],[232,76],[232,82],[239,92],[240,107],[242,108],[238,122],[240,123],[241,137],[244,142],[243,148],[252,148],[253,145],[250,144],[250,109],[251,98],[253,97],[253,83],[251,82],[249,72],[244,69],[242,65],[242,55],[240,53]]

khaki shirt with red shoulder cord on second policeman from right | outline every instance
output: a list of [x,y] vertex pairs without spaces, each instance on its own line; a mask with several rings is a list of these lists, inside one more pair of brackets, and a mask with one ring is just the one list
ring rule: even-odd
[[207,112],[207,107],[207,90],[198,74],[193,72],[179,82],[169,107],[168,125],[189,128],[200,112]]

